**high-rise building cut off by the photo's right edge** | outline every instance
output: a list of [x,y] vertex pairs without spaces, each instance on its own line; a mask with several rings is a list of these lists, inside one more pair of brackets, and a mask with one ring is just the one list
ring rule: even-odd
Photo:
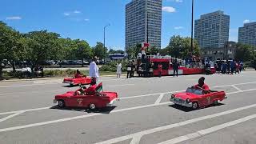
[[245,23],[239,27],[238,42],[256,46],[256,22]]

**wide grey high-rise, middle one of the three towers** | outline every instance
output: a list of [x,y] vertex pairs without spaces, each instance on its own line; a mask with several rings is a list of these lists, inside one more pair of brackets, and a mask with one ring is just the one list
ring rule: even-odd
[[229,31],[230,16],[220,10],[195,20],[194,38],[200,48],[223,47],[229,41]]

